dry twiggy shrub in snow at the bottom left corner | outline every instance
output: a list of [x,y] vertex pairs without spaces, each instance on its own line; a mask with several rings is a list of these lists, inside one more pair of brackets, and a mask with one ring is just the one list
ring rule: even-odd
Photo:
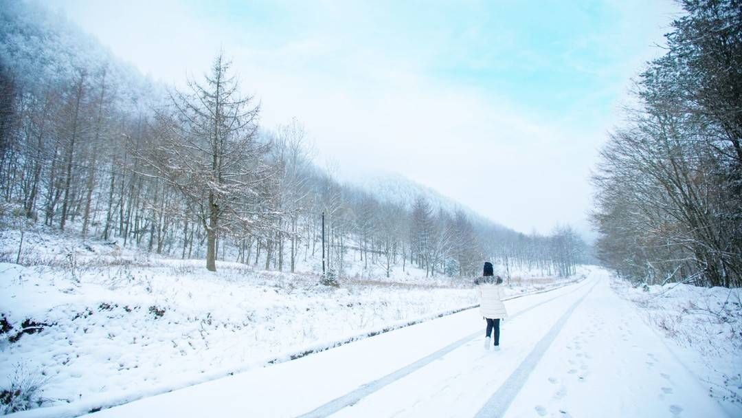
[[9,376],[7,387],[0,388],[0,411],[10,414],[41,406],[48,378],[37,370],[27,370],[17,365],[13,376]]

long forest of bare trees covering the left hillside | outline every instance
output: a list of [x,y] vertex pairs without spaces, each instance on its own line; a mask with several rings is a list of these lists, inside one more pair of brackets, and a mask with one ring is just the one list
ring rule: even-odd
[[205,259],[209,270],[226,260],[294,272],[321,255],[323,213],[329,269],[341,276],[350,261],[387,277],[410,265],[470,276],[485,259],[506,274],[566,276],[585,260],[569,227],[524,235],[423,196],[390,203],[339,183],[313,162],[298,120],[259,125],[258,100],[242,94],[238,69],[221,54],[185,88],[165,88],[99,47],[70,48],[91,40],[59,16],[4,5],[0,182],[16,208],[5,216]]

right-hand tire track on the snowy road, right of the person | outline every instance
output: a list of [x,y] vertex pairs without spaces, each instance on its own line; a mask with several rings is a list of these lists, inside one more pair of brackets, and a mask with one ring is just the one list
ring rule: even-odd
[[549,330],[548,333],[546,333],[546,335],[536,343],[536,346],[533,347],[531,353],[528,353],[528,356],[523,359],[518,368],[513,370],[513,373],[510,373],[508,379],[502,383],[499,389],[497,389],[492,396],[490,396],[490,399],[485,402],[482,409],[480,409],[474,416],[475,418],[502,417],[505,415],[505,412],[507,412],[510,407],[510,403],[513,402],[513,399],[515,399],[523,388],[526,380],[528,380],[528,376],[531,376],[531,372],[533,372],[533,369],[535,369],[536,365],[539,364],[539,361],[546,353],[546,350],[551,346],[551,343],[554,342],[554,339],[557,338],[557,335],[559,335],[564,324],[568,321],[570,316],[572,316],[574,310],[577,309],[582,301],[585,300],[585,298],[593,291],[596,285],[597,281],[590,287],[590,290],[588,290],[585,295],[582,295],[582,297],[577,299],[577,301],[562,314],[559,320],[552,325],[551,330]]

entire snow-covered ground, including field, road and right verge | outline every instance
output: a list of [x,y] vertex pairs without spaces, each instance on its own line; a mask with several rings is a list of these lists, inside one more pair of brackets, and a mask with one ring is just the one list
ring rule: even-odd
[[[5,261],[14,261],[15,233],[0,240]],[[100,414],[742,411],[738,290],[634,288],[595,267],[570,280],[522,272],[507,293],[533,295],[506,303],[504,348],[492,353],[482,351],[477,310],[455,313],[476,304],[469,280],[414,269],[385,278],[356,263],[339,287],[326,287],[306,272],[220,262],[214,273],[200,260],[102,242],[43,233],[25,241],[26,265],[0,264],[0,385],[42,382],[33,400],[51,408],[22,416],[131,401]],[[295,402],[280,402],[286,391]]]

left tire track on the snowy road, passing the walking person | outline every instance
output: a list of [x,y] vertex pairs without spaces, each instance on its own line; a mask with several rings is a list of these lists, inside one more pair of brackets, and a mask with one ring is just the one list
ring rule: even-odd
[[[542,306],[543,304],[547,304],[551,301],[554,301],[554,299],[561,298],[562,296],[565,296],[565,295],[570,295],[571,293],[574,293],[577,290],[582,289],[582,287],[585,287],[586,285],[587,285],[586,283],[580,284],[579,286],[575,287],[573,290],[569,291],[568,293],[557,295],[557,296],[554,296],[553,298],[548,298],[545,301],[540,301],[539,303],[534,304],[531,307],[527,307],[524,310],[520,310],[518,313],[514,314],[513,316],[510,316],[508,321],[512,321],[513,319],[516,319],[518,316],[522,315],[523,313],[533,310],[536,307],[539,307],[539,306]],[[593,287],[594,287],[594,284],[593,284]],[[560,288],[561,287],[557,289],[560,289]],[[554,290],[557,290],[557,289],[554,289]],[[591,287],[591,290],[592,290],[592,287]],[[587,295],[587,293],[585,293],[585,295]],[[582,298],[585,298],[585,296],[583,295]],[[580,298],[580,300],[577,303],[582,301],[582,298]],[[574,309],[574,306],[570,308],[570,313],[572,309]],[[410,365],[404,366],[404,368],[393,371],[392,373],[387,374],[387,376],[383,376],[379,379],[374,380],[373,382],[369,382],[365,385],[361,385],[360,387],[355,389],[355,391],[351,391],[349,393],[346,393],[343,396],[333,399],[330,402],[327,402],[324,405],[320,405],[318,408],[315,408],[314,410],[309,411],[306,414],[302,414],[298,418],[328,417],[329,415],[335,414],[335,412],[338,412],[343,408],[355,405],[356,402],[360,401],[361,399],[364,399],[364,397],[369,396],[371,393],[379,391],[385,386],[390,385],[390,383],[396,382],[397,380],[403,378],[404,376],[407,376],[416,370],[424,368],[424,366],[429,365],[431,362],[435,361],[436,359],[440,359],[441,357],[445,356],[447,353],[450,353],[451,351],[456,350],[456,348],[459,348],[462,345],[466,344],[467,342],[470,342],[472,339],[476,339],[477,337],[481,336],[481,334],[482,334],[481,331],[477,331],[476,333],[472,333],[469,336],[465,336],[464,338],[459,339],[459,341],[453,342],[452,344],[448,344],[446,347],[443,347],[434,353],[424,356],[422,359],[419,359],[416,362],[410,363]]]

